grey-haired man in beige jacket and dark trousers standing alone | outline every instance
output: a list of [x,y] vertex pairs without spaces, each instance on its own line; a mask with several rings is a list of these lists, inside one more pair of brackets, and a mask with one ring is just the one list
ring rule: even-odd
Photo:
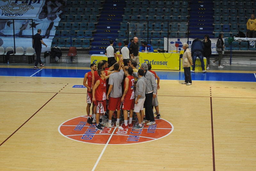
[[190,66],[193,65],[191,51],[188,48],[187,43],[183,43],[182,48],[184,49],[184,54],[182,56],[182,66],[184,68],[185,82],[181,84],[191,85],[192,80],[191,80]]

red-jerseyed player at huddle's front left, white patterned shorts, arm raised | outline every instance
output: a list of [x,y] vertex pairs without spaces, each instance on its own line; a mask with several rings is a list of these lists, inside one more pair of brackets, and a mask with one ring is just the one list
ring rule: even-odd
[[96,114],[96,124],[95,127],[98,130],[103,130],[100,124],[100,115],[106,111],[106,79],[109,78],[109,75],[106,76],[104,70],[98,70],[100,79],[98,79],[92,89],[92,101],[97,102],[97,114]]

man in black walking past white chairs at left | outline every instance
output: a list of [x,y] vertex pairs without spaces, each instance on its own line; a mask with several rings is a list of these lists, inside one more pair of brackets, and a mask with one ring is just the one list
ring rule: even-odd
[[35,63],[35,67],[34,67],[35,70],[39,69],[37,67],[38,62],[40,63],[40,67],[44,66],[44,64],[41,61],[42,44],[45,47],[47,47],[47,45],[43,42],[42,36],[40,35],[41,31],[42,31],[41,29],[38,29],[37,33],[34,35],[33,40],[32,40],[33,46],[36,51],[36,63]]

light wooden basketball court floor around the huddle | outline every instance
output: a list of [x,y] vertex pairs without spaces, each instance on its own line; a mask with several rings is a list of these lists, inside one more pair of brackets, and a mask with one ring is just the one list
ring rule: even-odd
[[254,171],[255,81],[161,80],[162,119],[125,144],[116,128],[83,142],[86,89],[73,87],[83,78],[0,77],[0,170]]

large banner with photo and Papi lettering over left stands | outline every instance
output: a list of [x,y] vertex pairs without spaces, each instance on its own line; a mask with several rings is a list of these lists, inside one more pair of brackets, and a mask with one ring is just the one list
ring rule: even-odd
[[[0,46],[32,47],[32,34],[41,29],[42,52],[50,51],[66,2],[63,0],[1,0]],[[33,20],[33,23],[32,23]],[[33,28],[33,32],[32,32]],[[15,38],[13,37],[15,35]]]

